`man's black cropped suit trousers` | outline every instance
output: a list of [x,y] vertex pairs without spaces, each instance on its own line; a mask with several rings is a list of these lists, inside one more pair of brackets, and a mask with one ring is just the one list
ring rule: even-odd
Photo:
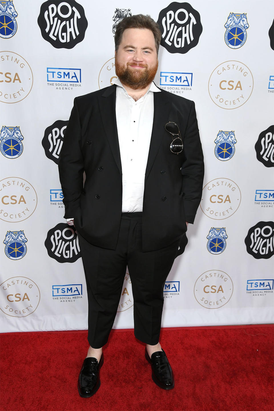
[[142,213],[123,213],[115,250],[94,246],[79,235],[87,282],[88,342],[108,341],[128,266],[134,298],[134,335],[146,344],[159,342],[163,287],[180,240],[168,247],[142,251]]

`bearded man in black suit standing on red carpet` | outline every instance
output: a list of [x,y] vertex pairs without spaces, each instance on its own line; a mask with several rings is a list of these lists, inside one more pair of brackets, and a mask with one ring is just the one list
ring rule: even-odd
[[163,389],[174,387],[159,343],[163,286],[200,203],[203,154],[194,103],[152,82],[160,41],[150,16],[126,17],[117,25],[118,79],[74,100],[60,155],[64,217],[69,224],[74,219],[78,232],[89,304],[81,397],[91,397],[100,386],[102,347],[127,266],[134,334],[146,344],[153,381]]

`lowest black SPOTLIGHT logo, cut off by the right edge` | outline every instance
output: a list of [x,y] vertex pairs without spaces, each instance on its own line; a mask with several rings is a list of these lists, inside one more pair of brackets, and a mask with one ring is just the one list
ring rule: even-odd
[[259,221],[249,229],[244,239],[246,251],[256,259],[268,259],[274,254],[274,222]]

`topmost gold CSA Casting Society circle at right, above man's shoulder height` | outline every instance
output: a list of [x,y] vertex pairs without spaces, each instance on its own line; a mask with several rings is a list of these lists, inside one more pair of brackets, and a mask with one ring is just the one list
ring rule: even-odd
[[253,90],[253,76],[240,61],[230,60],[215,67],[208,81],[210,98],[221,109],[231,110],[247,102]]

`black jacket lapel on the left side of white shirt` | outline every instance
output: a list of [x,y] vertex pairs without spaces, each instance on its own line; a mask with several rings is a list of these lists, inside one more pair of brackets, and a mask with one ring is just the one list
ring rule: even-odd
[[122,175],[122,164],[119,148],[119,139],[116,123],[116,85],[108,87],[104,93],[98,97],[101,118],[106,132],[106,137],[110,145],[117,167]]

